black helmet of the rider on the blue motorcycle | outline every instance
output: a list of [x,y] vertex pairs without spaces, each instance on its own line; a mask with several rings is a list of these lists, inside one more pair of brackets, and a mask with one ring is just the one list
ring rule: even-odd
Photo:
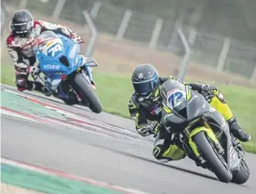
[[33,16],[26,9],[16,10],[10,22],[13,34],[28,38],[34,25]]

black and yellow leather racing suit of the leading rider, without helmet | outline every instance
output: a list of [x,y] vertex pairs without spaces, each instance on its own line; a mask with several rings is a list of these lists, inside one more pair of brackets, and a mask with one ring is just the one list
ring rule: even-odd
[[[232,111],[225,102],[221,91],[218,91],[214,85],[199,82],[185,83],[172,76],[159,78],[158,85],[163,84],[165,81],[170,81],[171,79],[175,79],[185,85],[187,84],[193,91],[201,93],[202,96],[207,99],[208,103],[226,119],[230,132],[233,133],[235,137],[240,141],[250,140],[251,136],[247,135],[246,132],[240,128]],[[176,145],[172,144],[168,132],[160,128],[159,122],[161,120],[162,109],[157,101],[157,94],[153,98],[144,99],[138,97],[136,93],[133,93],[128,102],[128,110],[130,116],[135,118],[136,129],[140,135],[156,135],[153,155],[157,160],[168,162],[170,160],[181,160],[185,157],[185,153],[180,148],[176,147]]]

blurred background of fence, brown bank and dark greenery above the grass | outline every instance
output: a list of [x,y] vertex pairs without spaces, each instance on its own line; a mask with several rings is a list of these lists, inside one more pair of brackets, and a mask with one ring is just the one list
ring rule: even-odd
[[[150,62],[164,74],[177,73],[184,62],[181,28],[190,48],[189,67],[183,69],[189,78],[256,82],[253,0],[3,0],[2,37],[15,9],[29,9],[35,19],[65,24],[89,42],[86,10],[99,32],[89,52],[102,64],[99,71],[129,73],[138,63]],[[2,62],[8,60],[3,53]]]

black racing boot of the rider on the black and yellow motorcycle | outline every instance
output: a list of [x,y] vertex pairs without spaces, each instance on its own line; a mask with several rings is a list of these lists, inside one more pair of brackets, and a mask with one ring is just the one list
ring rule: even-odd
[[237,139],[240,141],[246,142],[250,141],[252,136],[247,134],[246,131],[244,131],[239,123],[236,121],[235,117],[231,118],[230,120],[227,121],[229,128],[230,128],[230,133],[234,135]]

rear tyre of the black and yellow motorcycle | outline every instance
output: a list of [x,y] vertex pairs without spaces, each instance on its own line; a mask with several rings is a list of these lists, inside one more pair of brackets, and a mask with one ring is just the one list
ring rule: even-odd
[[250,171],[245,160],[241,160],[240,169],[238,172],[233,173],[231,182],[235,184],[244,184],[250,177]]

